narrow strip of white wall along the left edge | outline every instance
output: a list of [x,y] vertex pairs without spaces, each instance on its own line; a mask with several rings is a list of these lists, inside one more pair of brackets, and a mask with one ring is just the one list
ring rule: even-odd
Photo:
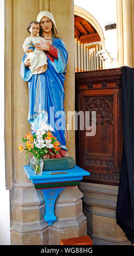
[[5,190],[5,154],[4,154],[4,0],[0,5],[0,245],[10,245],[10,208],[9,191]]

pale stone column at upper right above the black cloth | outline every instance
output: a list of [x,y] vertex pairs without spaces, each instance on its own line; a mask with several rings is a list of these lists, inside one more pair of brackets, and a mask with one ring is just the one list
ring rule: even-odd
[[117,0],[118,66],[134,65],[134,0]]

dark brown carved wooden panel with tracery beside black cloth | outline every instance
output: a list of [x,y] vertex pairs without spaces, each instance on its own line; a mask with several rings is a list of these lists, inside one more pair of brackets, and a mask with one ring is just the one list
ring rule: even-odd
[[76,163],[91,173],[83,181],[119,184],[123,148],[121,79],[120,68],[75,73],[76,111],[90,111],[86,120],[90,126],[91,112],[96,112],[94,136],[87,136],[86,127],[80,130],[78,119]]

